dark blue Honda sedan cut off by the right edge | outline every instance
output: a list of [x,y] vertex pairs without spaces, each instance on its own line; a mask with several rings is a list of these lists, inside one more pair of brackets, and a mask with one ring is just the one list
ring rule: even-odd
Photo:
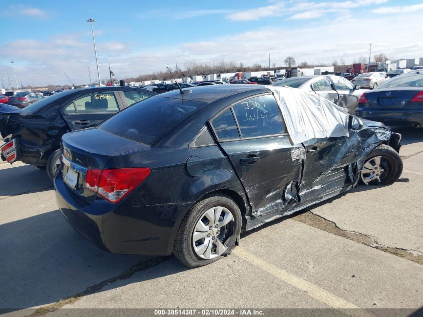
[[363,93],[355,113],[388,126],[423,126],[423,72],[396,76]]

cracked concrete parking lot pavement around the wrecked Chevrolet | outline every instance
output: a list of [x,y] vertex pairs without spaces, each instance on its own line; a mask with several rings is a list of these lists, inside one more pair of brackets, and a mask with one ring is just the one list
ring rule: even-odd
[[[423,305],[423,130],[401,130],[402,178],[242,235],[210,265],[104,252],[57,210],[43,170],[0,163],[0,308]],[[59,309],[56,310],[55,309]]]

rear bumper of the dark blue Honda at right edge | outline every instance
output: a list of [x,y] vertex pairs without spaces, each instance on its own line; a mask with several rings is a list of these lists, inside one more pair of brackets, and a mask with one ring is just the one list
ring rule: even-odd
[[387,126],[423,126],[423,110],[357,108],[356,116],[383,122]]

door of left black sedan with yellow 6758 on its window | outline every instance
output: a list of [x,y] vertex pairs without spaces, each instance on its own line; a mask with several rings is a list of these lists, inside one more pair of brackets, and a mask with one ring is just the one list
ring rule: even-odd
[[95,127],[122,110],[117,98],[113,91],[91,92],[68,103],[61,113],[72,131]]

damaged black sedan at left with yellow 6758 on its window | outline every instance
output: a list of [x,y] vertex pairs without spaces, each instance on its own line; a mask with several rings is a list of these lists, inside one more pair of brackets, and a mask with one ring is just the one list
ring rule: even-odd
[[0,134],[8,142],[0,148],[1,158],[47,168],[53,179],[63,134],[96,126],[153,95],[139,88],[95,87],[57,93],[23,109],[0,104]]

